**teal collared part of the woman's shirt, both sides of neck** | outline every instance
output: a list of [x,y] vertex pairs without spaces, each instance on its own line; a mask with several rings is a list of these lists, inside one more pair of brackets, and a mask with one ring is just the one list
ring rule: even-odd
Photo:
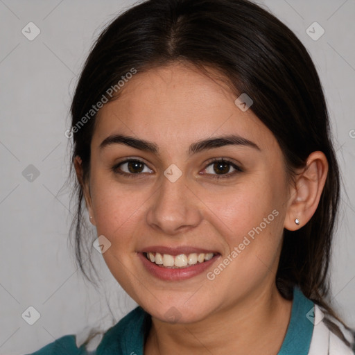
[[[313,334],[313,322],[311,322],[313,311],[313,302],[303,295],[300,288],[295,287],[291,320],[277,355],[309,353]],[[78,348],[75,336],[67,335],[28,355],[144,355],[144,337],[149,324],[150,315],[138,306],[105,332],[95,352],[86,352],[84,345]]]

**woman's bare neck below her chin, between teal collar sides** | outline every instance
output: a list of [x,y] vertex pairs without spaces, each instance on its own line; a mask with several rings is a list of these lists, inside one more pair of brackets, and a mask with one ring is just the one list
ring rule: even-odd
[[166,324],[152,318],[144,354],[277,354],[291,319],[292,301],[272,286],[263,292],[258,288],[198,322]]

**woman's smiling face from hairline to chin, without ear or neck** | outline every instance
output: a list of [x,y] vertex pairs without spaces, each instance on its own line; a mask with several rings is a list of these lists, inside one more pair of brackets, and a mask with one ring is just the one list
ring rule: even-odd
[[[96,121],[87,195],[98,236],[111,243],[103,257],[117,282],[155,318],[178,322],[274,288],[290,190],[270,130],[226,85],[182,64],[137,73],[121,90]],[[102,144],[114,135],[155,151],[118,138]],[[196,146],[232,135],[239,144]],[[156,252],[166,265],[192,266],[158,266],[144,251],[158,263]],[[196,263],[203,252],[215,256]]]

